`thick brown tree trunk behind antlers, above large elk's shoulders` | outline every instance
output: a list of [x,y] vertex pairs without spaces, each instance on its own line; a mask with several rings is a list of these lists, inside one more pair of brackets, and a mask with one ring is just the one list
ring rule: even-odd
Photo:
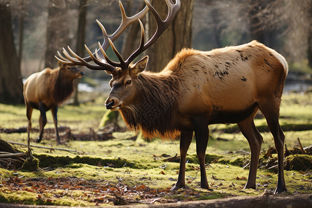
[[[160,71],[173,58],[177,51],[191,47],[192,21],[193,21],[194,0],[184,0],[181,3],[180,12],[175,17],[173,23],[148,49],[150,55],[149,68],[151,71]],[[153,6],[159,12],[162,19],[166,18],[167,6],[164,1],[153,1]],[[156,22],[153,15],[149,15],[148,33],[149,37],[155,32]]]

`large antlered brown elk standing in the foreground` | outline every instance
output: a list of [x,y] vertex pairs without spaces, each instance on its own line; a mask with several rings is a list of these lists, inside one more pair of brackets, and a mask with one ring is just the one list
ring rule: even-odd
[[[112,87],[105,105],[119,110],[123,120],[134,130],[141,130],[147,137],[175,138],[180,136],[180,171],[172,190],[185,186],[185,162],[189,145],[196,135],[196,151],[200,162],[200,187],[209,189],[205,170],[205,151],[209,138],[208,125],[212,123],[237,123],[248,139],[251,149],[250,173],[245,188],[256,188],[257,166],[262,137],[254,125],[254,116],[261,110],[274,137],[278,155],[278,181],[275,193],[286,190],[284,181],[284,134],[279,125],[279,105],[288,65],[276,51],[252,41],[241,46],[228,46],[212,51],[183,49],[159,73],[144,71],[148,57],[130,64],[137,55],[148,48],[175,17],[180,1],[166,0],[168,16],[162,20],[148,1],[146,4],[157,21],[157,30],[144,44],[144,28],[139,17],[126,17],[117,31],[108,36],[101,26],[104,43],[89,57],[80,58],[71,51],[72,57],[58,55],[64,63],[81,64],[90,69],[104,69],[112,75]],[[141,25],[139,48],[123,60],[111,40],[128,26],[129,19],[136,18]],[[110,42],[110,43],[107,43]],[[111,45],[119,58],[112,62],[105,50]],[[101,51],[101,53],[100,53]],[[96,65],[89,64],[93,60]]]

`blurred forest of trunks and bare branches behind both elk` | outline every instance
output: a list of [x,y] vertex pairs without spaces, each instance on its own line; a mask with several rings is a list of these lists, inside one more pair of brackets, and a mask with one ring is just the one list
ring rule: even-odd
[[[122,2],[128,15],[145,5],[140,0]],[[152,3],[164,18],[166,4]],[[258,40],[286,57],[291,71],[287,83],[298,81],[297,75],[300,81],[311,81],[311,5],[311,0],[182,0],[173,31],[168,28],[157,46],[145,52],[150,56],[148,69],[160,71],[183,47],[208,51]],[[22,103],[22,79],[45,67],[56,67],[54,55],[62,47],[71,46],[81,56],[87,54],[84,44],[94,50],[103,41],[96,19],[109,34],[121,22],[117,0],[0,0],[0,11],[1,103]],[[143,21],[147,34],[153,34],[153,17],[146,15]],[[128,55],[138,40],[139,24],[134,24],[115,44]],[[113,55],[110,49],[108,53]],[[85,71],[82,82],[110,78],[102,71]]]

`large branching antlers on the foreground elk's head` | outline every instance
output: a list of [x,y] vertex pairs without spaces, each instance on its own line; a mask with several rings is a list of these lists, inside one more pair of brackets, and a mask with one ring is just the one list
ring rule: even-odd
[[[173,21],[175,15],[177,15],[177,12],[180,10],[180,0],[175,0],[176,1],[175,3],[173,3],[172,0],[165,0],[168,6],[168,15],[165,20],[162,20],[162,18],[159,16],[158,12],[155,10],[155,8],[153,8],[150,2],[148,0],[144,0],[144,1],[146,3],[146,7],[143,10],[141,10],[139,13],[137,13],[136,15],[133,15],[132,17],[128,17],[127,15],[125,15],[125,10],[123,8],[123,5],[121,1],[119,1],[122,21],[121,21],[119,28],[117,28],[117,30],[112,35],[107,35],[104,26],[101,24],[100,21],[96,20],[103,32],[104,42],[102,45],[100,44],[100,42],[98,42],[99,49],[97,49],[96,52],[94,53],[92,53],[89,50],[89,48],[85,45],[85,49],[90,55],[89,57],[80,58],[80,56],[74,53],[68,46],[69,52],[74,57],[69,55],[69,53],[63,48],[62,52],[64,53],[66,58],[64,58],[60,54],[60,52],[58,52],[58,55],[60,58],[58,58],[57,56],[55,56],[55,58],[57,58],[60,62],[63,62],[64,64],[83,65],[83,66],[88,67],[89,69],[94,69],[94,70],[104,69],[107,71],[114,71],[116,67],[121,67],[121,69],[123,70],[128,69],[130,62],[132,62],[132,60],[134,60],[140,53],[148,49],[148,47],[151,46],[160,35],[162,35],[162,33],[166,30],[169,24],[171,24],[171,22]],[[153,37],[151,37],[150,40],[148,40],[148,42],[144,44],[144,36],[145,36],[144,26],[140,19],[144,17],[144,15],[146,15],[148,8],[153,13],[155,20],[157,21],[157,29]],[[113,41],[116,40],[116,38],[119,37],[119,35],[121,35],[123,31],[125,31],[125,28],[127,28],[130,24],[132,24],[135,21],[139,21],[139,24],[141,26],[140,46],[134,53],[132,53],[132,55],[130,55],[130,57],[127,60],[123,60],[120,53],[117,51],[116,47],[114,46]],[[112,60],[110,60],[110,58],[107,57],[105,51],[109,46],[112,46],[112,50],[114,51],[117,58],[119,59],[119,62],[113,62]],[[101,51],[101,53],[99,53],[99,51]],[[96,63],[96,65],[88,63],[92,60],[94,61],[94,63]]]

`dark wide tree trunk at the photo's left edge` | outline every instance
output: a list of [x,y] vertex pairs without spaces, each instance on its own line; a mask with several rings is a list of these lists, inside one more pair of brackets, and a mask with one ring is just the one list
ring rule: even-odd
[[0,103],[22,103],[23,83],[8,5],[0,1]]

